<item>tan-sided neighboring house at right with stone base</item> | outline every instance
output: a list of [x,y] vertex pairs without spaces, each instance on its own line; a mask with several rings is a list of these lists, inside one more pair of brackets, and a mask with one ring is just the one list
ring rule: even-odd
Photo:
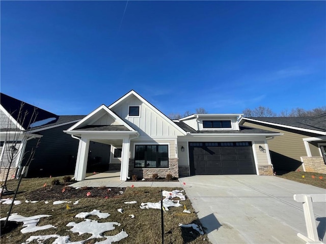
[[276,171],[326,173],[326,113],[315,117],[242,117],[240,124],[283,133],[268,141]]

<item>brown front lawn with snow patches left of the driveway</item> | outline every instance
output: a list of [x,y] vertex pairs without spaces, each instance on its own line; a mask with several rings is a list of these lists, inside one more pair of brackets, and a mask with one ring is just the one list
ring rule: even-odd
[[[71,209],[66,208],[66,204],[53,205],[53,200],[49,200],[48,204],[44,201],[37,203],[25,203],[25,200],[32,201],[33,199],[26,199],[26,196],[33,190],[37,190],[43,187],[46,183],[51,184],[53,178],[60,179],[63,182],[62,177],[52,178],[30,178],[23,179],[21,187],[16,200],[22,201],[19,205],[14,205],[12,213],[17,212],[19,215],[30,217],[34,215],[51,215],[51,217],[41,218],[38,226],[42,225],[55,225],[58,226],[56,229],[41,230],[32,233],[22,234],[20,232],[22,223],[19,223],[19,227],[13,229],[7,234],[1,236],[1,243],[22,243],[26,241],[31,235],[47,235],[47,234],[58,234],[61,236],[69,235],[70,241],[80,241],[91,236],[91,234],[78,235],[78,233],[72,233],[69,231],[71,227],[66,225],[69,222],[82,222],[83,219],[75,218],[75,215],[82,211],[92,211],[98,209],[101,212],[108,212],[111,214],[107,219],[98,219],[96,216],[90,216],[89,219],[97,220],[98,222],[118,222],[121,226],[116,226],[115,230],[104,232],[104,235],[115,235],[118,234],[122,229],[128,233],[128,237],[122,239],[118,243],[161,243],[161,219],[159,209],[141,209],[139,207],[142,202],[158,202],[160,200],[160,188],[126,188],[122,195],[113,198],[83,198],[78,204],[69,204]],[[14,184],[16,180],[10,180],[10,184]],[[10,188],[11,189],[11,188]],[[172,188],[164,188],[162,190],[176,190]],[[181,189],[179,189],[181,190]],[[47,200],[47,199],[44,199]],[[69,201],[75,201],[79,199],[66,199]],[[136,204],[124,204],[125,201],[137,201]],[[184,214],[183,207],[170,207],[169,211],[164,214],[164,238],[165,243],[210,243],[207,235],[199,235],[197,231],[191,228],[180,228],[179,223],[189,224],[196,223],[200,224],[197,215],[191,205],[191,202],[187,199],[181,201],[187,209],[191,210],[191,214]],[[117,209],[123,208],[124,213],[120,214]],[[5,217],[9,205],[1,205],[1,217]],[[134,215],[135,218],[131,219],[128,215]],[[192,232],[192,233],[191,233]],[[92,244],[96,241],[104,239],[92,239],[86,243]],[[53,238],[44,241],[44,243],[52,243]],[[36,242],[32,242],[36,243]]]

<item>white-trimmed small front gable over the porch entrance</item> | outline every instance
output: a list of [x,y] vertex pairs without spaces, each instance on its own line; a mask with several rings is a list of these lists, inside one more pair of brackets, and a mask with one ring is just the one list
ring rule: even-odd
[[[107,108],[104,104],[102,104],[97,109],[95,109],[93,112],[91,112],[90,114],[85,116],[83,119],[78,121],[76,124],[74,124],[72,127],[70,127],[67,131],[73,131],[73,130],[78,130],[79,131],[79,130],[85,130],[85,129],[88,129],[88,130],[92,131],[92,129],[89,129],[89,128],[96,128],[98,126],[88,125],[88,121],[90,121],[91,118],[94,117],[101,110],[104,110],[106,113],[110,114],[114,119],[116,119],[121,124],[121,126],[124,126],[128,131],[135,131],[122,118],[120,118],[116,113],[114,113],[112,110]],[[103,131],[108,131],[107,128],[104,128],[104,126],[102,126]],[[110,129],[113,129],[113,128],[115,128],[115,127],[110,127]],[[116,127],[116,128],[118,128],[118,127]],[[97,130],[93,129],[93,131],[100,131],[100,130],[99,129],[97,129]]]

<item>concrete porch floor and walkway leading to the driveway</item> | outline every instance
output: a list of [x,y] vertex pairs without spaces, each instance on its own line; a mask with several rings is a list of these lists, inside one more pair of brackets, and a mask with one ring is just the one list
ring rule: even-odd
[[179,181],[123,181],[120,180],[119,171],[105,171],[86,177],[69,187],[180,187]]

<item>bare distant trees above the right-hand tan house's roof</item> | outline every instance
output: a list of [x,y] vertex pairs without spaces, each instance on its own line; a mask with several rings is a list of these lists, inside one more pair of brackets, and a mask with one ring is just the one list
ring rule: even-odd
[[303,108],[292,108],[291,110],[282,110],[279,114],[268,107],[259,106],[254,109],[246,108],[242,111],[245,117],[313,117],[326,113],[326,106],[317,107],[311,110]]

